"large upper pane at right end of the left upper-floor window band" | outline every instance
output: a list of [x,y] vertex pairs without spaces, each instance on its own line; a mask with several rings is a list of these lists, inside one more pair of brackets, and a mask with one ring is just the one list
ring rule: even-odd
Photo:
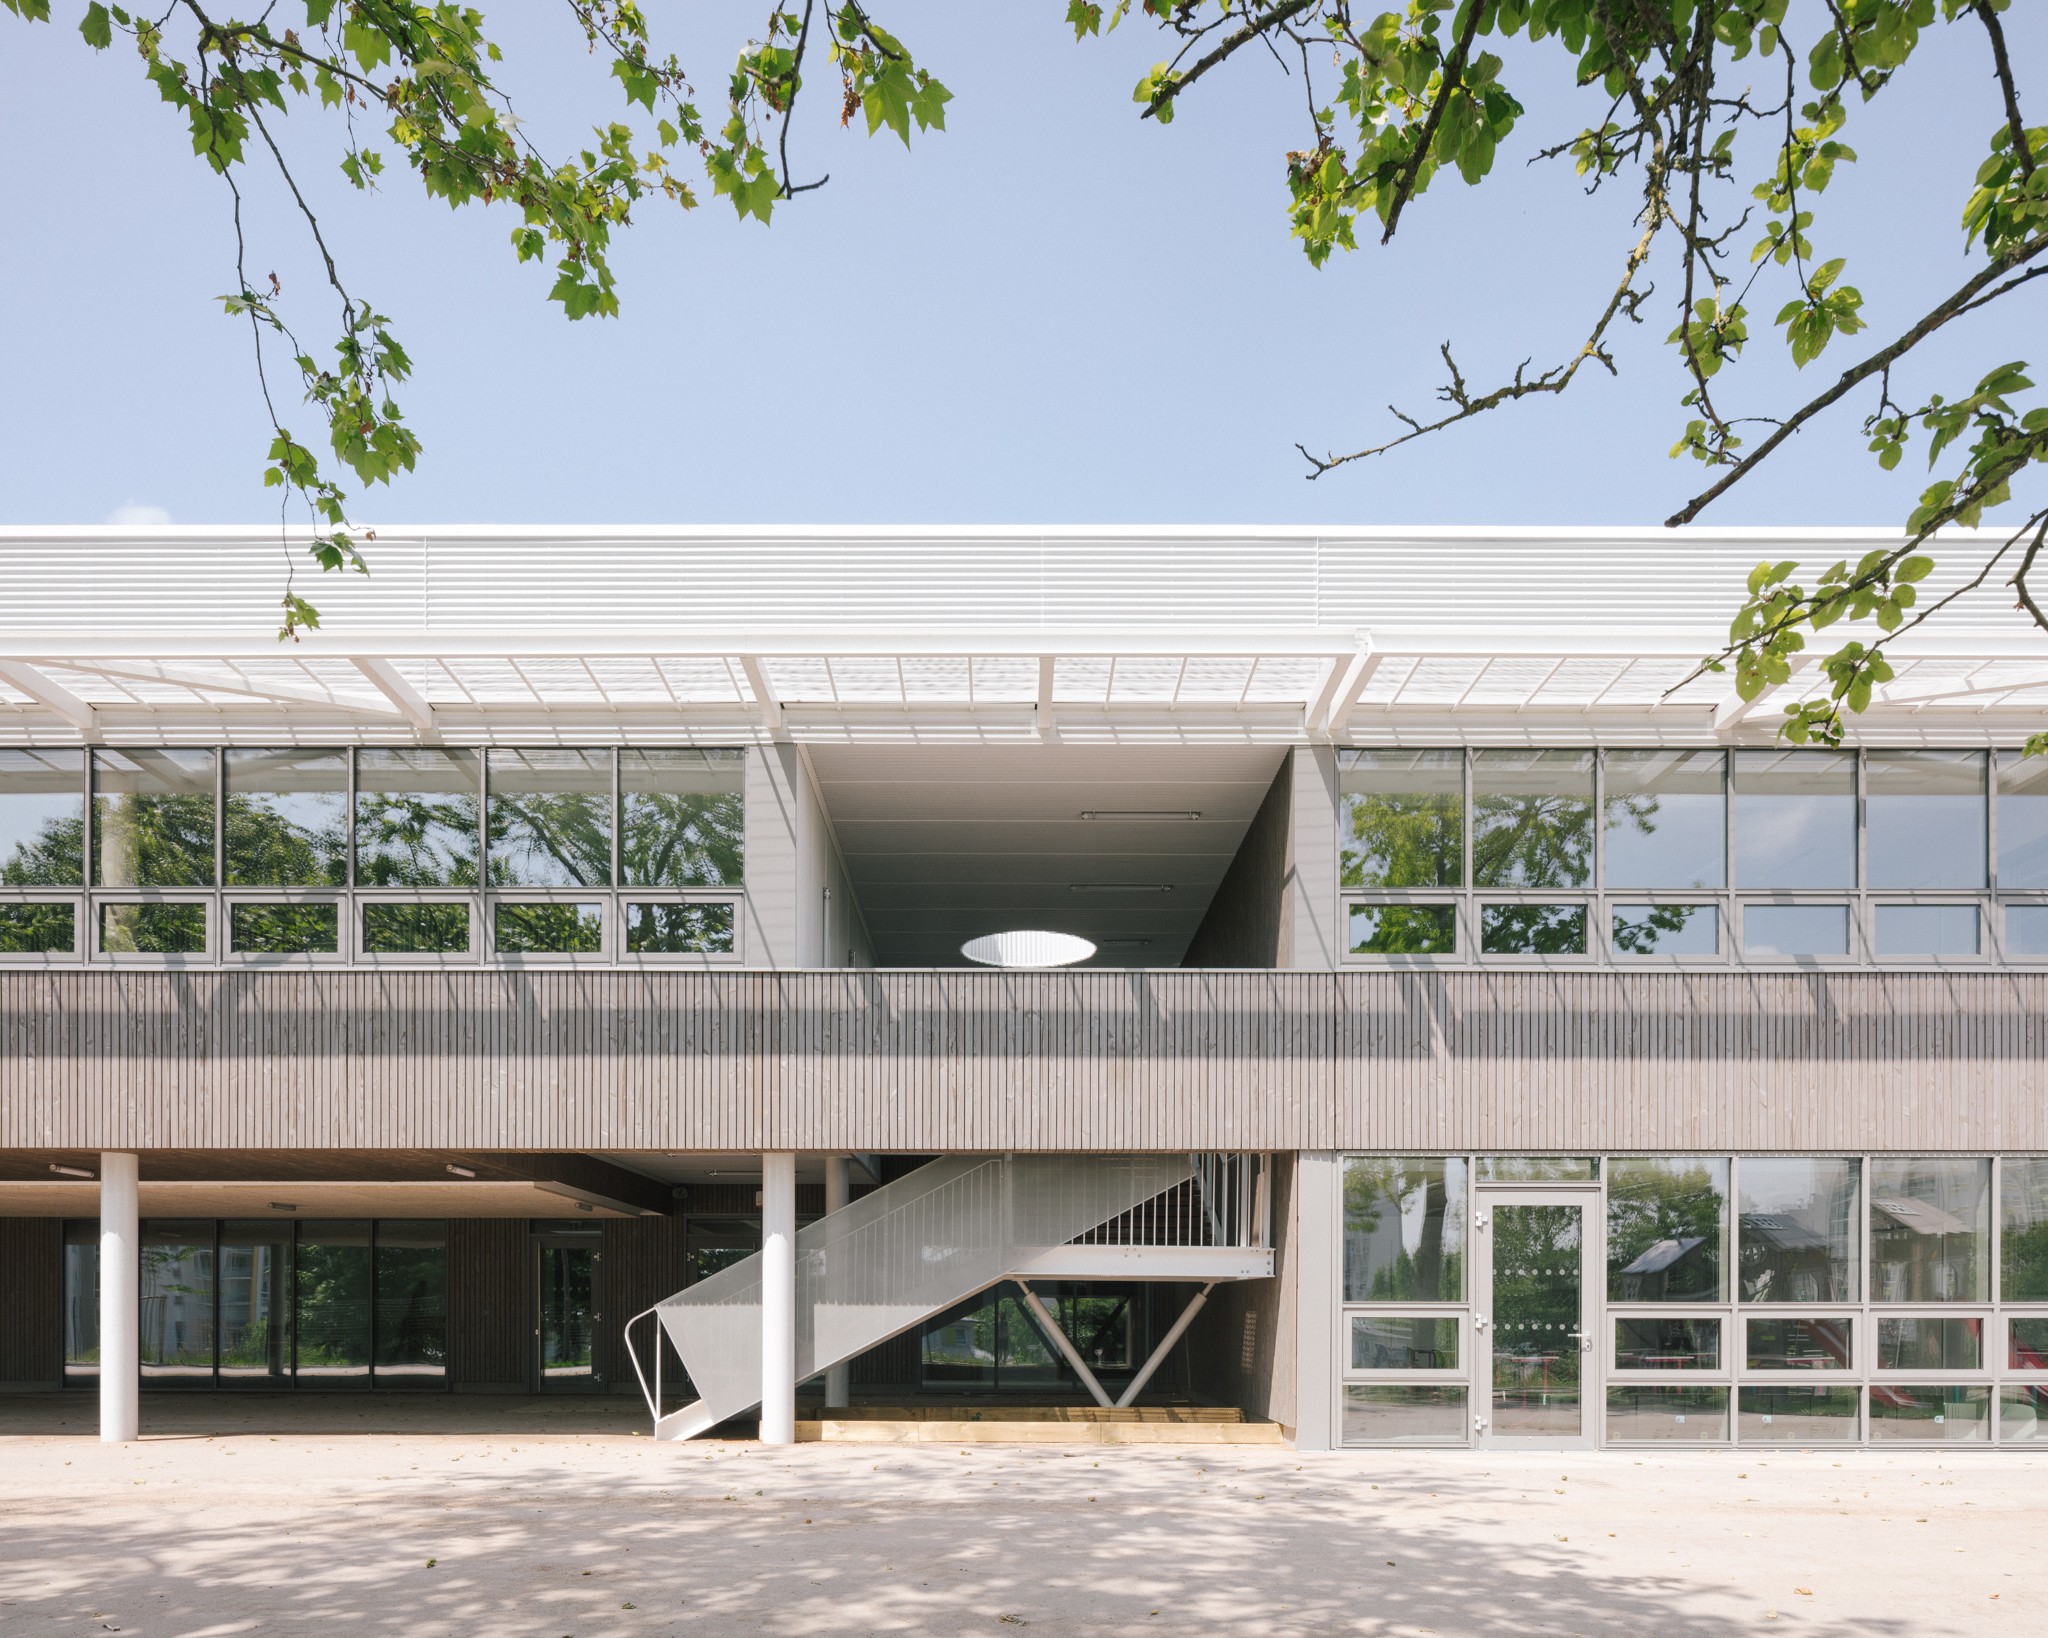
[[618,878],[627,887],[745,880],[745,751],[618,753]]

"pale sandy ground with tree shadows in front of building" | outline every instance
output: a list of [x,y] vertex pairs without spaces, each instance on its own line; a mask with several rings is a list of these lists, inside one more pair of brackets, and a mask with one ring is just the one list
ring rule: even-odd
[[[459,1405],[459,1403],[457,1403]],[[655,1446],[608,1405],[0,1407],[0,1632],[2048,1634],[2048,1462]]]

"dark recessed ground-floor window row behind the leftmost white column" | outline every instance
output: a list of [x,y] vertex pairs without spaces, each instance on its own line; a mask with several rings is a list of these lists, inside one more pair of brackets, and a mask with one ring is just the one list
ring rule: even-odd
[[[100,1370],[98,1222],[63,1226],[63,1372]],[[145,1388],[438,1388],[449,1224],[143,1218]]]

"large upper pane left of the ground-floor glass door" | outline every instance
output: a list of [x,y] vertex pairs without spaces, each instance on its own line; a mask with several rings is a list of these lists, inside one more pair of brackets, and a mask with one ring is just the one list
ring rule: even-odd
[[1356,1155],[1343,1167],[1343,1300],[1464,1300],[1464,1161]]

